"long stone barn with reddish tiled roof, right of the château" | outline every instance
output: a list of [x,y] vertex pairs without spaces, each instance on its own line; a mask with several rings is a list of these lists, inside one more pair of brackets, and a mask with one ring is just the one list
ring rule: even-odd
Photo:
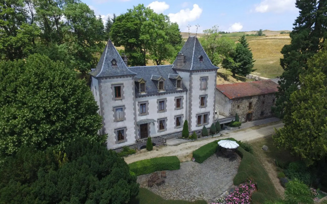
[[272,117],[277,86],[271,80],[217,85],[216,110],[226,117],[237,113],[240,122]]

